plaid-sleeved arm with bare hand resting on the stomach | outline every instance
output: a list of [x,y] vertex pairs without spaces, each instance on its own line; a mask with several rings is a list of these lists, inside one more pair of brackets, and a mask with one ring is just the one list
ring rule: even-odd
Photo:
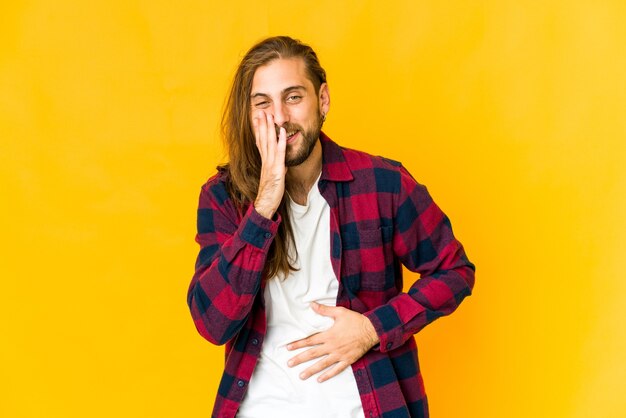
[[302,379],[326,370],[323,382],[336,376],[380,343],[383,352],[406,342],[424,326],[452,313],[474,285],[474,265],[454,238],[450,221],[426,188],[400,167],[399,193],[394,200],[394,255],[421,279],[363,315],[342,307],[317,306],[320,315],[335,319],[327,331],[288,346],[311,347],[293,357],[289,366],[320,358],[303,371]]

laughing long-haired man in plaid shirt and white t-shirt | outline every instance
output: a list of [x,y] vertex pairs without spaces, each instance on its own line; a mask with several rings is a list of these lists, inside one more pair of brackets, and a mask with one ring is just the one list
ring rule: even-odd
[[[226,344],[213,416],[428,416],[413,334],[471,293],[474,266],[400,163],[321,132],[329,107],[291,38],[235,75],[188,294],[200,334]],[[421,275],[408,293],[402,265]]]

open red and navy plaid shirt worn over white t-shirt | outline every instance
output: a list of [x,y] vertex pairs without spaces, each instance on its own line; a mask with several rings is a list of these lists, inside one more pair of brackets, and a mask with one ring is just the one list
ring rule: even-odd
[[[323,133],[319,190],[330,206],[337,306],[367,316],[380,344],[352,365],[366,417],[428,417],[413,334],[471,293],[474,265],[450,221],[400,163],[338,146]],[[234,417],[266,331],[263,268],[281,221],[243,213],[228,174],[202,187],[200,253],[188,304],[200,334],[226,344],[214,417]],[[402,264],[420,274],[403,292]]]

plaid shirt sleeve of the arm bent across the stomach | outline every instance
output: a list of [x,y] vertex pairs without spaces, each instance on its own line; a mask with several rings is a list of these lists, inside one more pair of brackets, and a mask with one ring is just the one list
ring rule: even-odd
[[448,217],[426,187],[400,167],[400,188],[394,202],[394,255],[419,273],[408,292],[366,312],[383,352],[398,348],[435,319],[449,315],[471,294],[474,265],[454,237]]

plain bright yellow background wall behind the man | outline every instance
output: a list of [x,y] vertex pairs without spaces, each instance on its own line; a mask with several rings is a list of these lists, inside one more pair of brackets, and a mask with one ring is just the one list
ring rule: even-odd
[[310,43],[325,131],[398,159],[477,265],[416,338],[431,415],[626,416],[626,3],[5,1],[0,416],[209,416],[186,306],[243,53]]

